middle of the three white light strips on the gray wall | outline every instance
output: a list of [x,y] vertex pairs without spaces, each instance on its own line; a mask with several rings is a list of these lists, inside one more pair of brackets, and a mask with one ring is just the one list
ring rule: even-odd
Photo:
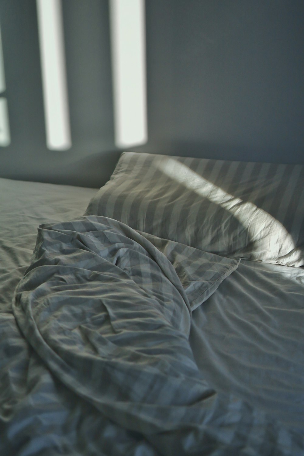
[[65,150],[72,145],[67,99],[61,0],[36,0],[46,145]]

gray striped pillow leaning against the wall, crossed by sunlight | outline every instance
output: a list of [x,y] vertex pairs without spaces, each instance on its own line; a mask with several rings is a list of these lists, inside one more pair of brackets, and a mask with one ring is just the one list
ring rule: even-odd
[[304,264],[304,166],[123,152],[85,215],[225,257]]

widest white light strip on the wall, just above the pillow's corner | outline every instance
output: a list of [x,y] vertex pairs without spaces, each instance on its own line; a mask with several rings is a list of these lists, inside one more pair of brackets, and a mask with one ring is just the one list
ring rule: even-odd
[[147,142],[144,0],[110,0],[115,144]]

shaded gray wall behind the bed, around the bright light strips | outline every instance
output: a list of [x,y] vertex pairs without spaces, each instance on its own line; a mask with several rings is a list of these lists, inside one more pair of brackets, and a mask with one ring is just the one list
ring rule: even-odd
[[[11,144],[0,176],[101,186],[114,145],[108,1],[63,0],[72,148],[46,148],[35,0],[0,0]],[[146,0],[148,143],[304,163],[304,2]]]

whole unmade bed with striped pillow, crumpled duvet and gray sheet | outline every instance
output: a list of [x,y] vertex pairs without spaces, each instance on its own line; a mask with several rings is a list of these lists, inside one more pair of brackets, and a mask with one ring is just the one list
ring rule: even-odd
[[0,453],[304,454],[304,166],[0,179]]

